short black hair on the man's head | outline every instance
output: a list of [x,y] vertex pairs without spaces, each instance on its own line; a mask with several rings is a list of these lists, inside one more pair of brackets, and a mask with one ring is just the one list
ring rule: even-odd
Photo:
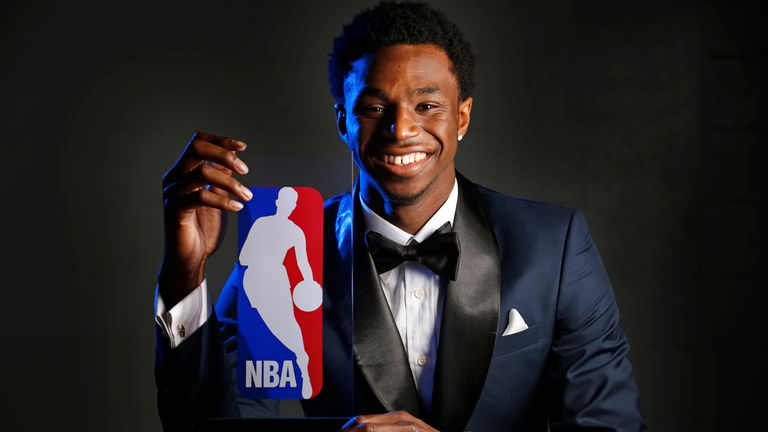
[[459,26],[426,3],[382,1],[355,15],[333,40],[328,81],[337,102],[344,102],[344,78],[352,63],[380,48],[403,44],[440,47],[452,63],[461,100],[475,87],[475,55]]

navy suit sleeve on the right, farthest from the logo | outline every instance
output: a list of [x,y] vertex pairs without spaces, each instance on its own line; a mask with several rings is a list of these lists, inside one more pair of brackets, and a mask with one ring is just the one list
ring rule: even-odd
[[571,218],[547,364],[550,430],[645,431],[619,310],[584,217]]

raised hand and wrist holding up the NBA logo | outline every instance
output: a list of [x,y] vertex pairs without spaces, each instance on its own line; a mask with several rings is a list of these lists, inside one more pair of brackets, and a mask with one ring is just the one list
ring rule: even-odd
[[232,177],[248,167],[237,157],[246,144],[233,138],[197,132],[163,176],[165,253],[158,276],[160,294],[173,307],[202,283],[205,262],[224,239],[227,212],[253,195]]

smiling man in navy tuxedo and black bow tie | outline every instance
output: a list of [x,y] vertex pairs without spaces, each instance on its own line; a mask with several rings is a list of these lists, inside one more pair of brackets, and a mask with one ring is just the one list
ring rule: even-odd
[[[423,4],[381,3],[335,40],[337,126],[360,177],[326,203],[326,370],[305,410],[370,414],[347,425],[360,430],[645,430],[583,217],[455,171],[473,63],[459,29]],[[204,281],[223,215],[242,208],[228,194],[251,198],[232,177],[248,171],[245,147],[198,133],[164,177],[157,382],[167,428],[272,409],[238,401],[225,354],[236,346],[233,284],[209,312]],[[417,256],[426,245],[445,254]],[[351,316],[339,312],[350,304]]]

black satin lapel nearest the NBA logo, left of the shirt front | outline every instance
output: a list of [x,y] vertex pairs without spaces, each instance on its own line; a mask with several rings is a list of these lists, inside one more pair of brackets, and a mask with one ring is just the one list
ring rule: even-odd
[[352,289],[357,363],[371,390],[388,411],[404,410],[418,417],[419,398],[403,342],[363,240],[357,185],[352,200],[355,209]]

